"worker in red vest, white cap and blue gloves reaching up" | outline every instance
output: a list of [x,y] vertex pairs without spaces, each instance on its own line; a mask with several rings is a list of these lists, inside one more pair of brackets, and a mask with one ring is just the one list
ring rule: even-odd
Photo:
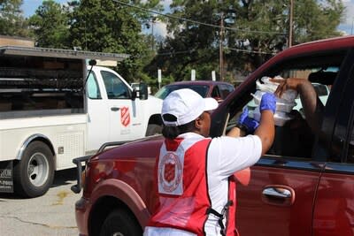
[[208,111],[217,107],[216,100],[189,88],[165,98],[165,141],[155,168],[158,204],[144,236],[238,235],[233,175],[255,164],[271,147],[275,97],[263,95],[259,123],[242,114],[239,125],[254,132],[245,137],[239,137],[238,126],[227,136],[208,138]]

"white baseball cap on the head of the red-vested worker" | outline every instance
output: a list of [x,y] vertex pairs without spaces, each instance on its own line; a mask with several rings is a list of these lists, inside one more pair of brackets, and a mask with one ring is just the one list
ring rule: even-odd
[[[182,88],[165,97],[161,117],[165,126],[181,126],[195,120],[204,111],[216,109],[218,105],[212,97],[203,98],[192,89]],[[173,115],[176,120],[165,120],[165,114]]]

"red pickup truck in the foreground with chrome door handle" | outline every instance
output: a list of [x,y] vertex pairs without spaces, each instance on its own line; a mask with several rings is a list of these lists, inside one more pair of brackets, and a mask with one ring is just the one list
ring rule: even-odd
[[[354,37],[304,43],[268,60],[212,113],[212,137],[235,126],[256,80],[276,75],[330,88],[321,130],[312,133],[300,119],[276,126],[273,147],[250,168],[248,185],[237,186],[237,228],[243,236],[354,235]],[[162,141],[153,136],[75,160],[81,235],[142,235],[156,202]]]

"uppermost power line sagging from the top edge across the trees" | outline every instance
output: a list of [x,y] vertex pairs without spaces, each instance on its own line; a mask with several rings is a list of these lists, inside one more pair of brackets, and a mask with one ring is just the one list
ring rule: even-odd
[[[161,13],[161,12],[158,12],[158,11],[152,11],[150,9],[146,9],[146,8],[143,8],[143,7],[135,6],[135,5],[132,5],[132,4],[127,4],[127,3],[121,2],[119,0],[112,0],[112,1],[116,2],[117,4],[126,5],[126,6],[129,6],[129,7],[138,9],[140,11],[148,11],[150,13],[154,13],[154,14],[157,14],[157,15],[160,15],[160,16],[164,16],[166,18],[178,19],[178,20],[186,21],[186,22],[189,22],[189,23],[194,23],[194,24],[197,24],[197,25],[205,26],[205,27],[214,27],[214,28],[218,28],[218,29],[221,28],[220,26],[217,26],[217,25],[212,25],[212,24],[200,22],[200,21],[196,21],[196,20],[193,20],[193,19],[180,18],[180,17],[173,16],[171,14],[164,14],[164,13]],[[281,34],[281,35],[285,35],[285,33],[280,33],[280,32],[248,30],[248,29],[241,29],[241,28],[234,28],[234,27],[223,27],[223,29],[232,30],[232,31],[241,31],[241,32],[245,32],[245,33],[253,33],[253,34]]]

